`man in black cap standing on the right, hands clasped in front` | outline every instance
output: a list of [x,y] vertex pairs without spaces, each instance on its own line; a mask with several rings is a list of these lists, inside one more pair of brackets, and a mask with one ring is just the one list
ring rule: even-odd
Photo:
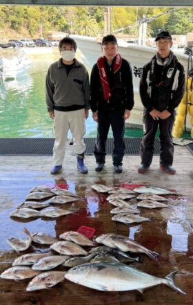
[[172,127],[175,108],[179,106],[185,89],[183,66],[172,53],[172,37],[167,31],[156,36],[157,53],[143,67],[139,93],[144,106],[143,123],[145,131],[141,141],[141,166],[138,172],[148,171],[154,154],[154,138],[159,127],[160,169],[175,174],[172,167],[174,145]]

